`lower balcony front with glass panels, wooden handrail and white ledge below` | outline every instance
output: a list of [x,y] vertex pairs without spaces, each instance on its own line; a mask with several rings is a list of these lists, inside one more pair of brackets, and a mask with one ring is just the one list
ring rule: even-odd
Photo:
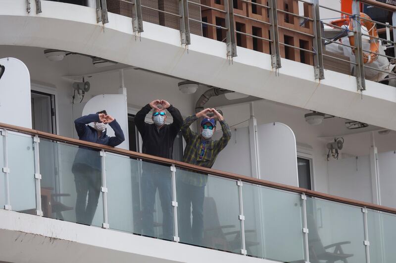
[[[395,259],[394,208],[0,126],[1,261],[390,263]],[[76,217],[76,206],[86,202],[77,200],[76,162],[99,164],[96,173],[94,169],[86,173],[95,182],[91,190],[99,193],[91,224]],[[155,200],[145,195],[153,176],[157,188],[167,189],[168,204],[158,195]],[[196,228],[200,231],[191,230],[191,208],[185,204],[192,198],[185,188],[192,178],[207,178],[203,225]],[[150,202],[151,214],[146,210]],[[193,222],[194,215],[195,211]]]

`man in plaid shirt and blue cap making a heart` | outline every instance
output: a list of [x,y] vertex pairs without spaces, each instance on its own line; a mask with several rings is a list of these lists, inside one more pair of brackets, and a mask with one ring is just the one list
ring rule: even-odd
[[[209,117],[210,113],[213,114]],[[190,125],[203,117],[200,123],[200,134],[193,132]],[[212,140],[216,131],[216,121],[219,120],[223,136],[220,140]],[[186,140],[183,161],[194,165],[211,168],[217,155],[223,150],[231,139],[231,130],[224,117],[215,109],[205,109],[187,117],[182,125],[182,134]],[[180,211],[180,241],[183,243],[202,246],[203,238],[203,198],[207,183],[206,174],[191,173],[180,170],[178,182],[178,203]],[[191,206],[193,211],[191,213]],[[193,222],[191,224],[191,214]]]

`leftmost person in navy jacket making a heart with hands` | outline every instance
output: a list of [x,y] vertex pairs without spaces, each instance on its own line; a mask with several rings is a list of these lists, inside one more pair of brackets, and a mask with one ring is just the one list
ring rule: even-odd
[[[93,127],[89,123],[93,123]],[[107,115],[106,111],[79,117],[74,125],[79,139],[83,141],[116,147],[125,140],[117,120]],[[106,135],[107,126],[114,130],[115,136]],[[72,166],[77,192],[76,221],[85,225],[91,225],[98,206],[101,187],[98,155],[98,150],[80,146]]]

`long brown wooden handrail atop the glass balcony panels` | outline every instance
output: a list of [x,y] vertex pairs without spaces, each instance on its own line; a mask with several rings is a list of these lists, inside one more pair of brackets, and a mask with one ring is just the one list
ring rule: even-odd
[[110,146],[106,146],[106,145],[90,143],[90,142],[86,142],[86,141],[82,141],[82,140],[77,140],[77,139],[68,138],[68,137],[64,137],[64,136],[60,136],[60,135],[55,135],[52,133],[28,129],[28,128],[5,124],[5,123],[1,123],[1,122],[0,122],[0,128],[5,128],[7,130],[16,131],[16,132],[20,132],[20,133],[24,133],[24,134],[30,134],[33,136],[38,135],[40,138],[50,139],[50,140],[54,140],[57,142],[69,143],[69,144],[77,145],[77,146],[87,146],[87,147],[98,149],[98,150],[103,149],[108,152],[118,153],[118,154],[126,155],[129,157],[147,160],[147,161],[153,161],[153,162],[160,163],[160,164],[167,164],[167,165],[173,164],[176,167],[183,168],[183,169],[189,169],[189,170],[192,170],[192,171],[195,171],[198,173],[215,175],[215,176],[233,179],[233,180],[237,180],[237,181],[241,180],[243,182],[251,183],[254,185],[282,189],[282,190],[287,190],[287,191],[291,191],[291,192],[295,192],[295,193],[305,193],[312,197],[319,197],[319,198],[330,200],[330,201],[340,202],[340,203],[359,206],[359,207],[366,207],[366,208],[370,208],[370,209],[374,209],[374,210],[379,210],[379,211],[383,211],[383,212],[389,212],[389,213],[396,214],[395,208],[391,208],[391,207],[387,207],[387,206],[376,205],[373,203],[344,198],[344,197],[335,196],[335,195],[317,192],[317,191],[312,191],[312,190],[308,190],[308,189],[304,189],[304,188],[298,188],[298,187],[288,186],[288,185],[284,185],[284,184],[278,184],[278,183],[261,180],[261,179],[257,179],[257,178],[252,178],[252,177],[248,177],[248,176],[244,176],[244,175],[239,175],[239,174],[234,174],[234,173],[230,173],[230,172],[205,168],[205,167],[192,165],[192,164],[181,162],[181,161],[157,157],[154,155],[140,153],[140,152],[136,152],[136,151],[132,151],[132,150],[124,150],[124,149],[114,148],[114,147],[110,147]]

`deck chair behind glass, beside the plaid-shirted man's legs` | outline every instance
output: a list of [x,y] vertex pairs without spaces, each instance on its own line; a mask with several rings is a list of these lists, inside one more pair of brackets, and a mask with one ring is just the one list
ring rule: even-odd
[[[233,230],[235,228],[235,225],[220,225],[214,198],[205,196],[203,199],[203,245],[219,250],[240,253],[241,231]],[[255,232],[255,230],[245,230],[245,232]],[[247,241],[247,250],[249,250],[250,246],[258,244],[258,242]]]

